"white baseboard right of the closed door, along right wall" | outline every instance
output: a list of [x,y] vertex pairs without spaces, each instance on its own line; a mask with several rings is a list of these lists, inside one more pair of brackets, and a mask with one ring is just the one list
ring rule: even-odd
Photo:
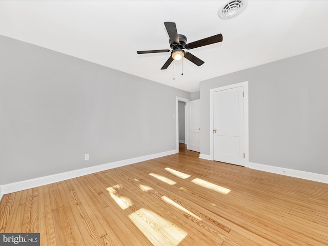
[[319,174],[319,173],[311,173],[311,172],[299,171],[299,170],[288,169],[288,168],[280,168],[280,167],[253,163],[253,162],[249,162],[249,168],[264,171],[264,172],[269,172],[269,173],[286,175],[295,178],[302,178],[302,179],[308,179],[308,180],[322,182],[322,183],[328,183],[328,175]]

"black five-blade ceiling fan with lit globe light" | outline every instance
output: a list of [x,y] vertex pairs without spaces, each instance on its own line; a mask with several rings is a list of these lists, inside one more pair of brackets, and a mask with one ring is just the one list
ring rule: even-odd
[[162,66],[161,69],[167,69],[169,65],[172,63],[173,60],[180,60],[183,57],[190,60],[192,63],[196,64],[197,66],[200,66],[204,64],[204,61],[199,59],[198,57],[194,56],[193,54],[189,53],[188,51],[184,51],[183,49],[194,49],[201,46],[211,45],[215,43],[222,42],[223,37],[222,34],[217,34],[211,37],[203,38],[200,40],[197,40],[195,42],[187,43],[187,37],[182,34],[178,34],[176,30],[176,25],[174,22],[165,22],[164,23],[165,28],[169,34],[170,40],[170,47],[172,50],[144,50],[144,51],[137,51],[137,54],[149,54],[149,53],[161,53],[161,52],[170,52],[171,56],[166,61],[166,63]]

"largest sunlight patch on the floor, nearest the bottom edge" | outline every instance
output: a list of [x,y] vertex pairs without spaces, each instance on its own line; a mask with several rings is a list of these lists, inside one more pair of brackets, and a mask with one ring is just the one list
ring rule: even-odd
[[188,235],[175,224],[144,208],[130,214],[129,218],[153,245],[177,246]]

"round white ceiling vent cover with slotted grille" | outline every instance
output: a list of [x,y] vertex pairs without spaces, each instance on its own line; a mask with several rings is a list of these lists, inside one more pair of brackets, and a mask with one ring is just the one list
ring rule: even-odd
[[246,8],[248,0],[233,0],[222,5],[218,10],[221,19],[231,19],[236,17]]

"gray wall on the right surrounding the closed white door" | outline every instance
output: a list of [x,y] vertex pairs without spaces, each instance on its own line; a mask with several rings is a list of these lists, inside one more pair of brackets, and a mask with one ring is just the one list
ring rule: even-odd
[[210,89],[249,81],[250,162],[328,175],[328,48],[200,83],[201,154]]

